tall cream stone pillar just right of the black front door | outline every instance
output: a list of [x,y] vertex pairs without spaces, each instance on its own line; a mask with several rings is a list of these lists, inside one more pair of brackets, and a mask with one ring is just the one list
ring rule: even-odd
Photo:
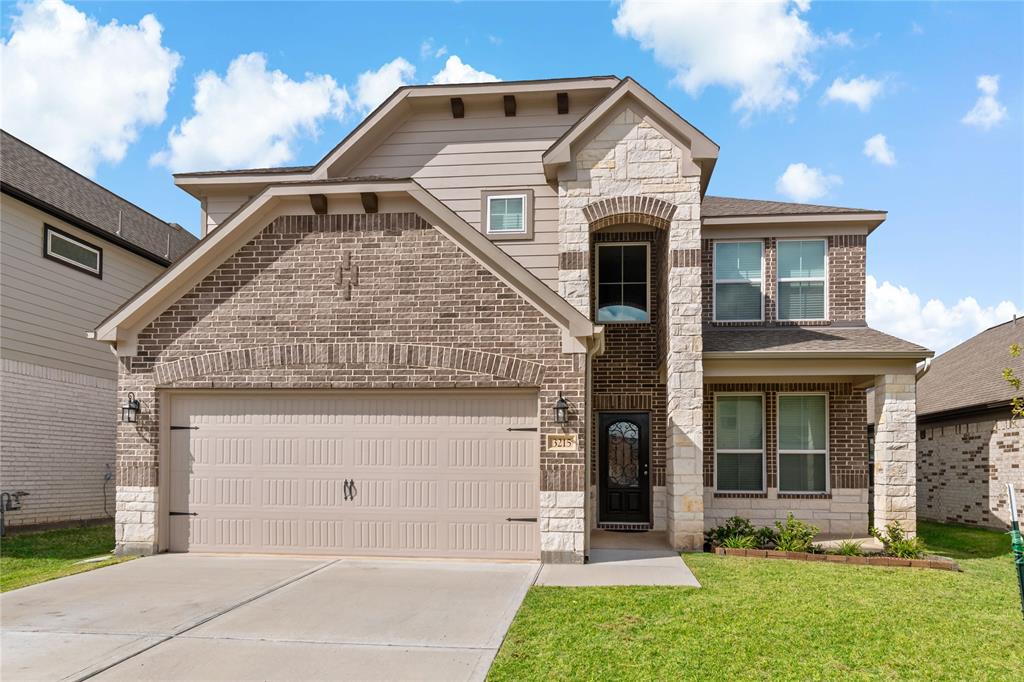
[[699,178],[683,178],[669,227],[666,503],[674,549],[703,546],[703,345],[700,322]]

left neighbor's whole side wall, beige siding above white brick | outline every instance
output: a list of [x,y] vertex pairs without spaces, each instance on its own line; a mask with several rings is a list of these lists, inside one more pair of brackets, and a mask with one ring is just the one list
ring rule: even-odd
[[[85,334],[163,268],[10,197],[0,209],[0,489],[29,493],[7,522],[101,518],[117,360]],[[44,223],[101,248],[102,279],[43,258]]]

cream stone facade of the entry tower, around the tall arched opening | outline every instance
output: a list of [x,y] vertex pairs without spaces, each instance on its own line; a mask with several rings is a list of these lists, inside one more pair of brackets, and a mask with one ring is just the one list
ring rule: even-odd
[[665,345],[667,529],[673,547],[698,549],[703,543],[699,171],[686,150],[639,108],[626,104],[560,172],[558,207],[559,293],[585,314],[591,301],[591,231],[615,220],[668,230],[659,282],[671,321]]

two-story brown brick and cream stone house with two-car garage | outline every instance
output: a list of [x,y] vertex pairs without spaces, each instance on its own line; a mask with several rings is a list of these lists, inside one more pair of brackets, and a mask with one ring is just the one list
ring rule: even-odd
[[[200,246],[98,326],[122,552],[579,562],[733,514],[914,530],[914,369],[864,324],[880,211],[705,195],[632,79],[404,87],[314,166],[184,173]],[[156,512],[150,511],[156,508]]]

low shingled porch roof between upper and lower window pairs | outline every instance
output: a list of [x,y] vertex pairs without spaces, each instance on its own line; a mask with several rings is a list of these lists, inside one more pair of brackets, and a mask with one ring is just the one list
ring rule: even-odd
[[757,353],[905,353],[931,354],[915,343],[869,327],[711,327],[703,329],[703,350]]

